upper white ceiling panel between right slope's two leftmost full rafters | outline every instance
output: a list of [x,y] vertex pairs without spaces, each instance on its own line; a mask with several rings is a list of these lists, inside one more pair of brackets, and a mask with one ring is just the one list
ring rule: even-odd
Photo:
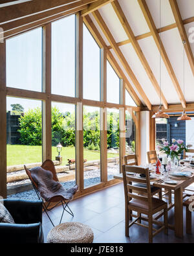
[[128,39],[127,34],[125,33],[125,30],[122,27],[122,24],[120,23],[120,20],[114,12],[113,6],[111,4],[104,5],[99,9],[99,12],[103,17],[107,27],[111,31],[111,34],[113,35],[116,43]]

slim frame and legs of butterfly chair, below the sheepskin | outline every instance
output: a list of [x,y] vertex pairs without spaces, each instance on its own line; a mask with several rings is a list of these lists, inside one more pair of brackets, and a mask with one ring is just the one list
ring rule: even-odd
[[[31,180],[30,180],[30,181],[31,181]],[[58,202],[56,205],[54,205],[52,208],[48,209],[48,206],[50,205],[51,202],[48,202],[48,205],[46,205],[45,202],[44,202],[44,200],[43,200],[43,198],[41,198],[41,195],[40,195],[38,189],[35,187],[34,183],[33,183],[32,181],[31,181],[31,183],[32,183],[32,186],[34,187],[34,190],[35,190],[35,192],[36,192],[36,194],[37,194],[39,200],[41,200],[41,201],[43,202],[43,209],[44,209],[43,213],[45,212],[45,213],[47,214],[47,216],[48,216],[50,222],[52,223],[52,226],[54,226],[54,224],[53,224],[53,222],[52,222],[50,216],[48,215],[47,211],[51,211],[52,209],[54,209],[54,207],[58,206],[59,204],[62,204],[62,205],[63,205],[63,212],[62,212],[62,215],[61,215],[61,220],[62,220],[62,218],[63,218],[64,211],[67,211],[67,209],[65,209],[66,207],[69,209],[69,211],[67,211],[67,213],[69,213],[72,217],[74,217],[74,214],[72,213],[71,209],[69,208],[69,205],[68,205],[69,202],[66,202],[65,199],[59,201],[59,202]],[[61,220],[60,220],[59,224],[61,224]]]

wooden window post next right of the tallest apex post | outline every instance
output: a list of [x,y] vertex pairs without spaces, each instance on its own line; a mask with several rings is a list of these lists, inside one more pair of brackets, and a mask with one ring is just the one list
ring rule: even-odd
[[[100,101],[107,102],[107,52],[100,49]],[[107,181],[107,109],[100,108],[101,181]]]

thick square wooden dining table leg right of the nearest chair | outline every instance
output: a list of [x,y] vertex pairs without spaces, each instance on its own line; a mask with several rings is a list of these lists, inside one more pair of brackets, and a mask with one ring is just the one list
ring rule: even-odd
[[175,190],[175,235],[183,237],[182,187]]

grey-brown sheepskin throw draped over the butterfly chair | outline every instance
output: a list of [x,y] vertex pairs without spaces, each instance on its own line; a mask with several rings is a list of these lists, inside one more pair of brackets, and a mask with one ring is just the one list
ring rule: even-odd
[[65,200],[72,200],[74,194],[78,190],[78,186],[65,189],[59,181],[53,180],[53,174],[50,170],[42,167],[34,167],[30,169],[32,179],[38,185],[38,191],[41,197],[48,202],[53,196],[62,196]]

